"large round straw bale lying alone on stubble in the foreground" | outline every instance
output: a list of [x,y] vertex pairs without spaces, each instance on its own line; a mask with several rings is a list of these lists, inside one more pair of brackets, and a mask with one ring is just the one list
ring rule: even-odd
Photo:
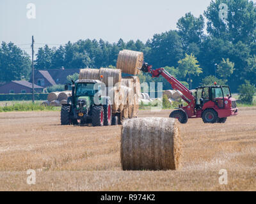
[[123,170],[177,170],[181,141],[177,120],[148,117],[125,120],[121,133]]

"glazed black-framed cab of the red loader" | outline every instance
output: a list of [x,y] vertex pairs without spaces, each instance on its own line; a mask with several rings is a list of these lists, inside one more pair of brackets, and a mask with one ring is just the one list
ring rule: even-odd
[[225,98],[230,99],[231,97],[228,86],[198,87],[196,89],[196,109],[202,109],[209,101],[214,102],[220,109],[225,108]]

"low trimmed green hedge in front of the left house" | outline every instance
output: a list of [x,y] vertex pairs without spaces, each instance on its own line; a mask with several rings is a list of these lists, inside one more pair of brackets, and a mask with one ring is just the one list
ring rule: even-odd
[[[35,94],[36,101],[47,101],[48,94]],[[0,101],[30,101],[32,94],[0,94]]]

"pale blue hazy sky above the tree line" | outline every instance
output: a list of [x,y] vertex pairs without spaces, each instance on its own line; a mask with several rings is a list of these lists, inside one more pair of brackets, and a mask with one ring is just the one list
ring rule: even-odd
[[[191,11],[198,17],[211,0],[1,0],[0,41],[13,41],[29,53],[36,43],[65,44],[102,38],[109,42],[147,41],[153,34],[176,28]],[[36,6],[36,19],[26,17],[28,3]],[[53,45],[52,45],[53,46]],[[40,47],[40,45],[36,45]]]

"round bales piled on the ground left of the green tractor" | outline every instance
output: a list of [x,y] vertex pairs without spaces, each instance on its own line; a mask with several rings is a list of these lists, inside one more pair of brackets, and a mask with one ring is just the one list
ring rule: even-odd
[[71,94],[71,91],[51,92],[47,96],[47,101],[44,101],[42,105],[61,106],[62,104],[67,104],[67,99],[71,96]]

